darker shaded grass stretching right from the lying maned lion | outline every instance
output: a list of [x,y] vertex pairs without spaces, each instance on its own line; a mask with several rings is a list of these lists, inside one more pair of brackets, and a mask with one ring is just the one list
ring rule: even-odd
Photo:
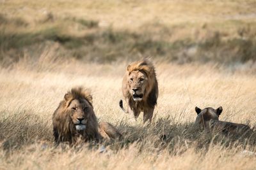
[[172,118],[166,117],[159,118],[147,126],[129,127],[125,123],[120,123],[119,129],[128,143],[140,143],[141,148],[152,148],[153,145],[157,150],[168,149],[171,154],[183,153],[191,147],[207,152],[210,145],[253,148],[256,144],[256,132],[248,136],[206,134],[194,123],[173,124],[173,122]]

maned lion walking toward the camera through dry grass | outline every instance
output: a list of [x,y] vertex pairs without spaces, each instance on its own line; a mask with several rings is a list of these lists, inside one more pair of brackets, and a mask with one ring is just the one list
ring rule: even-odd
[[132,111],[136,119],[143,111],[143,122],[152,120],[158,97],[156,71],[152,62],[142,59],[127,66],[122,81],[122,93],[127,110],[124,109],[122,99],[119,105],[125,113]]

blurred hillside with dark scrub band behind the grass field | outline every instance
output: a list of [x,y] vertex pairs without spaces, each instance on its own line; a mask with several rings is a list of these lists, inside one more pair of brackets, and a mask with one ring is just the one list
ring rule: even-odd
[[[256,60],[255,1],[1,1],[0,60]],[[53,50],[52,50],[53,49]]]

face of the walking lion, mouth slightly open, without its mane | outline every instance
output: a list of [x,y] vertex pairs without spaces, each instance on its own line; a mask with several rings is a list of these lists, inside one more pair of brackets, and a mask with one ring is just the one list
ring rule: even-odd
[[132,71],[128,76],[129,92],[134,101],[141,101],[147,88],[148,78],[141,71]]

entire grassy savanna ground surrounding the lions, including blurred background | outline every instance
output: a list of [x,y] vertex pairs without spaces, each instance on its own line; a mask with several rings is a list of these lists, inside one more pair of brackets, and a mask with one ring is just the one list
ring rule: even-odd
[[[256,125],[255,1],[0,1],[0,169],[255,169],[256,134],[212,136],[195,106]],[[125,67],[152,56],[154,119],[118,106]],[[92,90],[122,141],[55,148],[51,117],[71,87]],[[141,114],[142,115],[142,114]],[[161,136],[166,134],[166,140]]]

